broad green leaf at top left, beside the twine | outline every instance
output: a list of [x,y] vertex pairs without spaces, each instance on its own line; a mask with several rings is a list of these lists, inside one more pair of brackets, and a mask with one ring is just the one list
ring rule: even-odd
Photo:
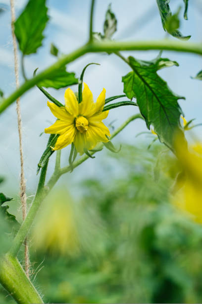
[[49,20],[46,0],[29,0],[15,21],[15,36],[24,55],[36,53],[42,46],[43,31]]

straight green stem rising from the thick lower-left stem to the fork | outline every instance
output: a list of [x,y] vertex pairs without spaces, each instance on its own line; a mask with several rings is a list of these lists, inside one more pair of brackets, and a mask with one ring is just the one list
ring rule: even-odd
[[20,249],[20,246],[22,245],[25,237],[27,236],[29,229],[32,226],[33,220],[37,214],[37,211],[39,210],[41,202],[43,201],[43,199],[46,196],[46,191],[45,191],[44,185],[45,185],[45,180],[46,180],[47,167],[48,167],[48,161],[41,170],[39,184],[38,184],[37,192],[36,192],[34,201],[32,203],[32,206],[30,207],[30,210],[29,210],[24,222],[22,223],[21,227],[19,228],[19,230],[13,240],[12,246],[9,250],[9,253],[11,256],[17,255],[17,253]]

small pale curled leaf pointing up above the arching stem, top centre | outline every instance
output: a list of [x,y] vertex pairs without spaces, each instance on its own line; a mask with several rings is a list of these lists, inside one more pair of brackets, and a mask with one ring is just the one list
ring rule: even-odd
[[111,11],[111,4],[108,5],[105,21],[104,21],[104,38],[111,39],[116,32],[117,20],[114,13]]

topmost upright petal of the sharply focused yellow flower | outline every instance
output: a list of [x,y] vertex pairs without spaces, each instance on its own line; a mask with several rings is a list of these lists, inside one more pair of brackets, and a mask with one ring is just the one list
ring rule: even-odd
[[82,102],[79,104],[79,114],[86,117],[90,116],[94,110],[93,94],[88,85],[84,83],[84,89],[82,93]]

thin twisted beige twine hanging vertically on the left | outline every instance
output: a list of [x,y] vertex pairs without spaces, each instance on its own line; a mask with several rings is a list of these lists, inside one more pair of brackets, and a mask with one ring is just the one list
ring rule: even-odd
[[[15,68],[15,83],[16,88],[19,87],[19,73],[18,73],[18,56],[17,56],[17,42],[14,33],[14,22],[15,22],[15,9],[14,0],[10,0],[11,8],[11,30],[12,30],[12,42],[14,51],[14,68]],[[22,206],[22,219],[26,218],[27,215],[27,197],[26,197],[26,181],[24,177],[24,161],[23,161],[23,149],[22,149],[22,121],[20,113],[20,97],[16,100],[16,111],[17,111],[17,125],[18,125],[18,135],[19,135],[19,150],[20,150],[20,200]],[[29,261],[29,247],[28,241],[25,239],[25,273],[29,277],[30,261]]]

